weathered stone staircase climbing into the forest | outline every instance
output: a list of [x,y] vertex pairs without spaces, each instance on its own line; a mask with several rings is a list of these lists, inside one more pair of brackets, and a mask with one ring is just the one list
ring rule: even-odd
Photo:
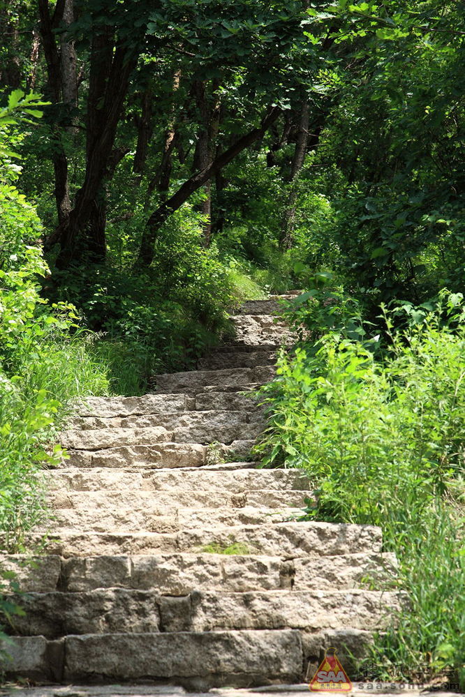
[[[286,299],[286,297],[284,297]],[[292,341],[249,301],[235,343],[198,370],[158,375],[156,394],[89,398],[47,473],[50,543],[15,569],[10,676],[43,682],[154,682],[189,689],[301,682],[325,647],[357,656],[398,606],[367,590],[395,573],[376,527],[296,522],[302,470],[247,461],[263,414],[247,396]],[[45,531],[31,536],[38,541]]]

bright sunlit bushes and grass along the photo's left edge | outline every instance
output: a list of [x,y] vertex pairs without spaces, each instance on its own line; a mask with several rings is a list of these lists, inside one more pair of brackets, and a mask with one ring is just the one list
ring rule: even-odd
[[[15,141],[20,114],[36,117],[37,99],[13,93],[0,112],[2,142]],[[19,114],[19,116],[15,116]],[[47,516],[43,465],[53,447],[59,412],[76,396],[105,393],[105,367],[85,351],[86,339],[67,303],[47,305],[38,278],[48,273],[34,207],[15,188],[20,167],[0,160],[0,531],[1,546],[21,550],[26,533]],[[17,158],[17,156],[15,155]]]

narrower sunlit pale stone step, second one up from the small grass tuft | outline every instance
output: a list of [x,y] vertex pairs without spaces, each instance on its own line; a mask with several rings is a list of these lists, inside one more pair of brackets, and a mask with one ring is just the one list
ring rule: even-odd
[[[302,516],[302,491],[276,490],[226,497],[193,492],[191,500],[179,494],[140,491],[117,496],[86,492],[51,497],[54,518],[40,530],[61,532],[179,532],[205,525],[260,525],[283,523]],[[184,500],[189,506],[184,504]]]

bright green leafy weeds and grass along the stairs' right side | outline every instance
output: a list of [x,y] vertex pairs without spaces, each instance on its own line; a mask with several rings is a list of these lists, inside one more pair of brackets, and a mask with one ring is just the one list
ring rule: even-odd
[[[312,300],[294,317],[313,336],[315,308],[328,314]],[[390,585],[410,602],[367,657],[380,680],[465,686],[464,317],[462,297],[444,293],[434,308],[385,313],[383,343],[343,313],[316,346],[283,354],[260,392],[263,465],[302,467],[316,482],[305,518],[379,525],[397,555]]]

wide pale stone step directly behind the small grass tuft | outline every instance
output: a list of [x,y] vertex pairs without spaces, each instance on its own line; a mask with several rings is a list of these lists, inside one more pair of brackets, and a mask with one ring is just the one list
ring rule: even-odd
[[[41,534],[27,535],[28,548],[43,539]],[[47,553],[64,557],[154,554],[158,552],[201,552],[219,546],[230,548],[241,543],[246,553],[279,557],[316,558],[325,555],[379,553],[381,530],[372,525],[344,523],[267,523],[264,525],[205,526],[171,534],[156,532],[61,532],[50,539]],[[5,536],[0,535],[0,551]],[[244,552],[245,553],[245,552]]]

